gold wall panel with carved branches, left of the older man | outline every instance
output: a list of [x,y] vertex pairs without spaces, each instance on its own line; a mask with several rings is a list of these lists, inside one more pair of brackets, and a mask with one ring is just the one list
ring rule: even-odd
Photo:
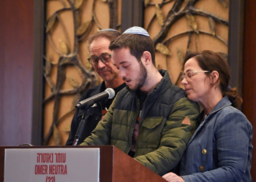
[[[67,9],[70,7],[67,0],[62,2],[63,4],[60,1],[45,1],[46,22],[53,15],[58,15],[53,27],[45,35],[45,58],[51,65],[49,71],[45,71],[49,72],[49,74],[45,74],[45,76],[48,76],[47,79],[50,79],[53,84],[45,82],[43,144],[51,146],[64,145],[67,141],[72,117],[75,114],[74,103],[78,103],[76,99],[80,98],[79,94],[82,94],[87,89],[83,88],[83,81],[86,80],[89,83],[89,87],[94,87],[94,85],[101,82],[87,60],[89,58],[87,42],[89,36],[103,28],[115,28],[118,30],[120,28],[115,25],[119,25],[121,21],[121,0],[83,1],[79,7],[78,17],[80,18],[75,18],[75,20],[79,19],[79,21],[75,22],[71,10],[61,10],[63,11],[61,13],[56,12],[64,9],[64,7]],[[116,5],[112,7],[111,4]],[[94,15],[92,15],[92,12],[94,12]],[[117,18],[114,18],[115,13],[110,12],[117,13]],[[110,21],[111,17],[113,20]],[[81,25],[85,25],[84,23],[88,22],[90,25],[87,29],[80,36],[76,35],[75,24],[78,23],[78,27],[81,27]],[[75,39],[74,36],[76,37]],[[79,38],[78,42],[76,41],[77,38]],[[77,42],[77,44],[74,44],[74,42]],[[64,45],[68,51],[63,49]],[[77,48],[78,52],[75,51]],[[61,66],[59,59],[72,58],[72,55],[78,55],[80,66],[74,66],[71,62],[69,66]],[[88,73],[87,75],[85,74],[86,72]],[[58,79],[59,73],[64,73],[62,74],[63,83]],[[94,79],[95,77],[97,79]],[[74,87],[74,83],[78,83],[78,86]],[[61,86],[59,87],[59,85]],[[77,89],[83,91],[79,91],[79,93],[76,91]],[[53,90],[56,93],[53,93]],[[59,94],[58,90],[61,90],[62,93]],[[67,90],[72,90],[73,93],[67,94]],[[64,92],[66,94],[63,94]],[[51,97],[51,95],[55,95],[55,98]],[[53,138],[53,132],[57,137]]]

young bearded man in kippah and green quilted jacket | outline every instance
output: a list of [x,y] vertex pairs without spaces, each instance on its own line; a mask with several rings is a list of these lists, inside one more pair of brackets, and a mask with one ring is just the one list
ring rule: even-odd
[[154,42],[143,28],[127,29],[110,50],[127,89],[81,145],[114,145],[159,175],[173,171],[195,131],[197,103],[157,70]]

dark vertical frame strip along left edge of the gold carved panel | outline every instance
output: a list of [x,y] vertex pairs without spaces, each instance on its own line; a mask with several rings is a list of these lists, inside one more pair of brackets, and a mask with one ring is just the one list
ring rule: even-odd
[[31,143],[42,145],[43,55],[45,48],[45,1],[34,0],[34,82]]

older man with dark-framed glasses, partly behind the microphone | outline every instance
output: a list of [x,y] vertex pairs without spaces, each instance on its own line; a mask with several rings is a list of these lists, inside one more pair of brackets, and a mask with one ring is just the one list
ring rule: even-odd
[[[117,94],[117,92],[126,86],[123,79],[118,76],[118,69],[116,66],[113,66],[113,62],[111,60],[111,50],[108,49],[110,41],[116,39],[116,37],[120,34],[121,33],[118,31],[109,28],[98,31],[90,37],[89,52],[91,57],[88,58],[88,60],[89,63],[94,66],[94,70],[102,78],[103,82],[96,87],[86,90],[86,92],[84,92],[81,96],[80,100],[85,100],[93,95],[97,95],[99,92],[105,91],[106,88],[113,88]],[[83,129],[83,134],[80,141],[83,141],[85,138],[91,135],[91,131],[97,126],[98,122],[102,119],[102,116],[107,113],[113,99],[114,98],[103,100],[102,102],[95,103],[94,106],[89,108],[89,118],[87,119],[85,128]],[[85,111],[83,109],[75,112],[66,145],[73,144],[75,140],[75,133],[78,130],[80,119],[84,113]]]

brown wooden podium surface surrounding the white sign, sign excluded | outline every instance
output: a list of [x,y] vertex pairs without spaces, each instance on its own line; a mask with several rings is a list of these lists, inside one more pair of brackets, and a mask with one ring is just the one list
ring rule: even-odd
[[[0,182],[4,181],[5,149],[99,149],[99,182],[158,181],[166,182],[161,176],[129,157],[115,146],[0,146]],[[79,166],[78,166],[79,169]],[[75,181],[75,179],[73,179]],[[86,179],[85,179],[86,181]]]

